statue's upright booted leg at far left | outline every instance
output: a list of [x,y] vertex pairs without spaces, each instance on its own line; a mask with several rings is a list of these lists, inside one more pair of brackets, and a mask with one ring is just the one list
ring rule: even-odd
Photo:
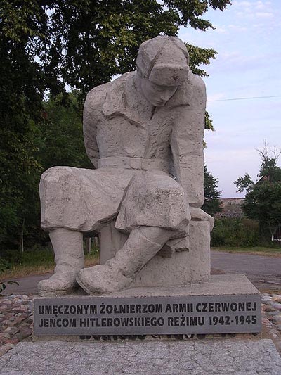
[[49,233],[55,253],[55,273],[38,284],[39,295],[63,295],[77,286],[76,277],[84,267],[83,234],[59,228]]

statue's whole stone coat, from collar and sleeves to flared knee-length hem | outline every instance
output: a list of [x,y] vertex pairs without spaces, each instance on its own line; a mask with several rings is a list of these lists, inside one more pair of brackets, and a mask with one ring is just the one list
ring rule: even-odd
[[53,167],[42,175],[42,228],[98,232],[115,220],[126,233],[156,226],[175,239],[188,235],[190,208],[203,203],[204,84],[190,75],[165,106],[152,108],[135,75],[87,96],[84,140],[98,169]]

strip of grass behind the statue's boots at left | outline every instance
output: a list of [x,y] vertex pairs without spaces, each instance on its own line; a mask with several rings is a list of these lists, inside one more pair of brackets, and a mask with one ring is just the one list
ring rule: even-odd
[[[41,249],[26,251],[24,253],[11,253],[11,260],[8,260],[8,268],[0,274],[0,281],[16,279],[19,277],[36,274],[48,274],[55,268],[53,251]],[[98,252],[94,250],[91,254],[85,255],[85,266],[90,267],[98,264]]]

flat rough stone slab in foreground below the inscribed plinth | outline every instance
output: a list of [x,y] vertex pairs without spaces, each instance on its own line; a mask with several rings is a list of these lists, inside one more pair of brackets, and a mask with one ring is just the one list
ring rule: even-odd
[[1,375],[271,374],[281,358],[270,340],[20,343],[0,359]]

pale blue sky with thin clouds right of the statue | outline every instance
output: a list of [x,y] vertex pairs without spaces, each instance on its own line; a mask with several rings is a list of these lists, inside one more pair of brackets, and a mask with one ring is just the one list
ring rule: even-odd
[[[264,141],[281,149],[281,1],[233,0],[226,11],[211,10],[204,18],[216,30],[181,28],[178,36],[218,52],[203,67],[215,127],[205,132],[205,162],[218,178],[221,197],[239,198],[244,194],[236,193],[233,182],[246,172],[258,179],[257,150]],[[228,100],[237,98],[245,99]]]

